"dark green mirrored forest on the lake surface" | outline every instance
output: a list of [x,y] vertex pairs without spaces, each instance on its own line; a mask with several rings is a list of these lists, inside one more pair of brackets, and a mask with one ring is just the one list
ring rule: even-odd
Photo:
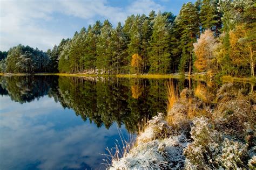
[[[166,112],[166,82],[173,81],[181,91],[204,84],[208,94],[214,95],[221,82],[192,79],[125,79],[118,77],[64,76],[0,76],[0,94],[12,101],[25,103],[45,95],[60,102],[63,108],[76,112],[84,121],[106,129],[116,122],[130,132],[138,131],[144,117],[151,119],[158,112]],[[234,83],[245,93],[253,90],[253,83]],[[211,95],[208,95],[211,100]]]

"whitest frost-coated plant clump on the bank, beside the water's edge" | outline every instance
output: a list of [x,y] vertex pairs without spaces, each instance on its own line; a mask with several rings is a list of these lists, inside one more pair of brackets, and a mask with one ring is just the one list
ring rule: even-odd
[[[110,169],[180,169],[184,167],[183,150],[187,146],[184,134],[170,136],[171,128],[159,114],[149,121],[140,134],[137,145],[123,158],[112,161]],[[167,134],[163,136],[163,134]],[[159,134],[161,134],[159,136]]]

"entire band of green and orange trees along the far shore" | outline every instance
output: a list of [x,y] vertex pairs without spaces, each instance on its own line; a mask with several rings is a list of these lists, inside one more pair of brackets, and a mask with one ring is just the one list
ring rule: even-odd
[[[179,15],[151,11],[124,25],[83,27],[47,52],[18,45],[0,53],[3,73],[166,74],[207,72],[254,76],[256,3],[203,0]],[[7,55],[8,54],[8,55]]]

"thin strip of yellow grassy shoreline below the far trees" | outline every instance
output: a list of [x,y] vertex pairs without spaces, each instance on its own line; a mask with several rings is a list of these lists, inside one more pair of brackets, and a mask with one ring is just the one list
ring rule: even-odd
[[[120,78],[140,78],[140,79],[181,79],[181,78],[192,78],[197,80],[207,80],[210,79],[206,74],[196,73],[196,74],[87,74],[87,73],[35,73],[35,74],[26,74],[26,73],[0,73],[0,76],[28,76],[28,75],[58,75],[58,76],[67,76],[67,77],[120,77]],[[224,75],[220,77],[220,80],[223,82],[256,82],[256,77],[232,77],[229,75]]]

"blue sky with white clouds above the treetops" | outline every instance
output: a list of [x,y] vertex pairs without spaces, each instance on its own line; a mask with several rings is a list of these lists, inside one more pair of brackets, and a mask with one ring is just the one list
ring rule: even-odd
[[43,51],[96,20],[124,24],[132,14],[171,11],[196,0],[0,0],[0,51],[18,44]]

